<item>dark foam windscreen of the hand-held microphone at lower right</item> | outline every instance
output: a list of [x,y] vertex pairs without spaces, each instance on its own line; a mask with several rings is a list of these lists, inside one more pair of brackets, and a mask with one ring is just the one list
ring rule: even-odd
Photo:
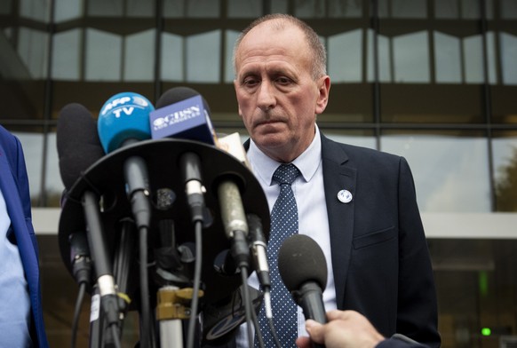
[[300,289],[306,281],[327,287],[327,262],[322,249],[309,236],[294,234],[278,251],[278,272],[289,291]]

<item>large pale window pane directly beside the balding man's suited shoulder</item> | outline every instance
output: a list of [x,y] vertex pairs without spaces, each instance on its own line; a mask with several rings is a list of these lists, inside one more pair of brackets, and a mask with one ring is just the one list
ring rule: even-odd
[[420,210],[491,210],[485,138],[389,133],[381,138],[381,150],[410,163]]

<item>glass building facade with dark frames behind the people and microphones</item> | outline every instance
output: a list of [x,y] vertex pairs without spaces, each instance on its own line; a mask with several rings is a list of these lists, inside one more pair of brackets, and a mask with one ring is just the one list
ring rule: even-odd
[[[410,162],[443,346],[517,341],[517,1],[3,0],[0,123],[26,154],[52,346],[69,342],[77,291],[57,242],[61,108],[80,103],[96,118],[116,93],[155,103],[186,85],[216,130],[245,136],[233,44],[270,12],[306,20],[327,47],[320,129]],[[136,321],[124,335],[136,339]],[[86,346],[86,309],[78,340]]]

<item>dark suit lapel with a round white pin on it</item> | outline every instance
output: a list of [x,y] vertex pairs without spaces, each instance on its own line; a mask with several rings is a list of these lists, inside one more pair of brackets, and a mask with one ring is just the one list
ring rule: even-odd
[[345,298],[346,274],[350,265],[354,234],[354,199],[343,203],[338,192],[348,190],[355,194],[357,173],[346,165],[348,156],[337,143],[322,135],[322,164],[325,201],[329,216],[330,249],[336,287],[336,302],[342,309]]

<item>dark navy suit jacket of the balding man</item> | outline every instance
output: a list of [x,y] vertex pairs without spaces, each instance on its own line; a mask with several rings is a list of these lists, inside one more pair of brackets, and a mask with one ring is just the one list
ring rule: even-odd
[[[338,309],[361,312],[384,336],[440,346],[433,270],[408,162],[322,135],[322,166]],[[343,189],[352,202],[338,201]]]

